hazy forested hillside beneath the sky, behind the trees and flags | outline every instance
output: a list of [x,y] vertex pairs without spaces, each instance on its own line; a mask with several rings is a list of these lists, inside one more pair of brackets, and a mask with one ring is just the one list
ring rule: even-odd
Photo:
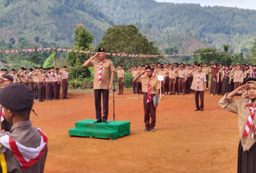
[[24,39],[24,47],[73,47],[74,28],[83,24],[94,34],[96,46],[110,25],[123,24],[135,25],[163,54],[174,47],[180,53],[206,47],[222,50],[224,44],[231,53],[249,54],[255,18],[255,10],[153,0],[2,0],[0,41],[9,48]]

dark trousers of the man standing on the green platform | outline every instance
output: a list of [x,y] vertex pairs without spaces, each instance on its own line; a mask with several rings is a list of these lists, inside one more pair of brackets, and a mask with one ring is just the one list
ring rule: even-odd
[[96,110],[96,119],[101,120],[101,93],[103,100],[103,117],[102,119],[107,120],[109,116],[109,90],[98,89],[94,90],[94,103]]

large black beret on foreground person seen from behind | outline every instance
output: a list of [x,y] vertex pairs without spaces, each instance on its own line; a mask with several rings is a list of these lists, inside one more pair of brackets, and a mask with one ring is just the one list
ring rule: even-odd
[[34,103],[34,92],[23,83],[13,83],[0,93],[0,103],[10,111],[28,111]]

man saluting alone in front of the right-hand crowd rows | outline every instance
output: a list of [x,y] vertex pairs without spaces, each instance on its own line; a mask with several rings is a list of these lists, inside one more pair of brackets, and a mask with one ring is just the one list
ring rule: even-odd
[[[196,72],[197,70],[197,72]],[[191,90],[194,90],[195,100],[196,100],[196,109],[195,111],[204,111],[204,91],[206,89],[206,76],[202,72],[202,64],[199,64],[196,69],[188,72],[188,75],[193,76],[193,82],[191,84]],[[201,104],[199,106],[199,97]]]

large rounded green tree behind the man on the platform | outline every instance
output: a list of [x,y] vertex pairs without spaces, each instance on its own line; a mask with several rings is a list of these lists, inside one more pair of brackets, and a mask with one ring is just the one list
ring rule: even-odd
[[[98,47],[103,47],[107,52],[125,54],[159,54],[154,42],[148,41],[146,36],[141,35],[139,29],[134,25],[115,25],[106,30]],[[155,58],[141,57],[110,57],[117,64],[124,68],[130,68],[141,63],[157,62]]]

